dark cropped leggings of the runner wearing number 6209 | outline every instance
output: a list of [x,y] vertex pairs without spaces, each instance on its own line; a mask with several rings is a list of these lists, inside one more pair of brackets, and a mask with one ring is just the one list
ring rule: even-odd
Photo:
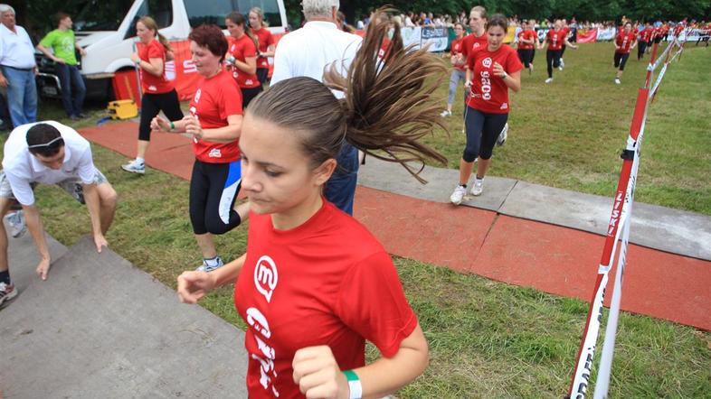
[[508,114],[488,114],[472,107],[467,107],[464,114],[467,145],[461,158],[466,162],[474,162],[477,157],[488,160],[498,135],[506,125]]

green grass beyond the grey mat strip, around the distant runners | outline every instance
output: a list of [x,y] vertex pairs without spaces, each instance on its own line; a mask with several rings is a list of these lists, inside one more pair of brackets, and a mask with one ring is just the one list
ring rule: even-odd
[[[489,174],[611,197],[630,132],[638,89],[649,62],[635,54],[622,84],[612,81],[611,43],[565,51],[565,69],[545,84],[545,51],[536,51],[532,76],[511,95],[507,144],[494,150]],[[635,200],[711,215],[711,51],[693,44],[670,65],[649,107]],[[442,107],[447,88],[442,88]],[[458,169],[465,137],[463,90],[454,102],[450,136],[435,132],[429,143]],[[444,108],[442,108],[444,109]],[[452,188],[456,184],[452,181]]]

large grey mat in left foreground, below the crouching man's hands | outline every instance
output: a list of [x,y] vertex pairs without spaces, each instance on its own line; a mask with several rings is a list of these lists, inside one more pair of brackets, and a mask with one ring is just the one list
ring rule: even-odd
[[0,311],[6,398],[246,397],[243,333],[91,240]]

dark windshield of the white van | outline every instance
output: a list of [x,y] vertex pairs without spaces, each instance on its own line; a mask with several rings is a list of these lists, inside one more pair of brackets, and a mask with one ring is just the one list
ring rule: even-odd
[[77,32],[118,31],[134,0],[87,0],[74,20]]

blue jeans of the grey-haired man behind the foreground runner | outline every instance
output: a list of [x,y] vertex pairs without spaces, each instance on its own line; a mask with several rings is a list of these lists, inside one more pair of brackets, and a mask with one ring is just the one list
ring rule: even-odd
[[326,182],[326,199],[348,215],[353,215],[353,199],[358,181],[358,150],[344,144],[337,156],[338,166]]

